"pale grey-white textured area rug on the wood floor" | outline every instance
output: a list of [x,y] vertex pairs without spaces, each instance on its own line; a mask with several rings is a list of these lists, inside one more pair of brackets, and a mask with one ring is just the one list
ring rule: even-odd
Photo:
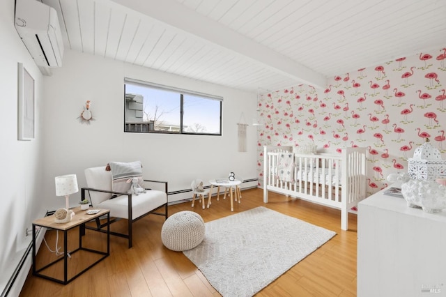
[[336,233],[263,206],[206,223],[183,252],[222,296],[253,296]]

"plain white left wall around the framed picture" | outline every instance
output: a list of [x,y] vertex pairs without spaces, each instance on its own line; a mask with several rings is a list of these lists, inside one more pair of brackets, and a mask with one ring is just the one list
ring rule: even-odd
[[[31,222],[45,215],[43,208],[43,79],[14,27],[14,0],[0,1],[0,292],[31,236]],[[17,140],[17,63],[36,81],[36,139]]]

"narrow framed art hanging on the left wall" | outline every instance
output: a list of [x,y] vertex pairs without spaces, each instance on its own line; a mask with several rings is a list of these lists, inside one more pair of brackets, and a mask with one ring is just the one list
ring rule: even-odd
[[24,68],[23,63],[18,65],[18,139],[34,139],[35,121],[35,85],[34,79]]

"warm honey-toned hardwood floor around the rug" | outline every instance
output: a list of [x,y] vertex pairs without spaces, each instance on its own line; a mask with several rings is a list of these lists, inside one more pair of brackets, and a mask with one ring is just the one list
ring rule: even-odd
[[[319,206],[300,199],[288,198],[270,192],[268,204],[263,203],[263,190],[242,191],[242,203],[234,204],[234,212],[265,206],[280,213],[305,220],[337,232],[328,243],[293,266],[256,296],[356,296],[356,243],[357,222],[349,215],[349,230],[340,228],[339,210]],[[191,203],[169,206],[169,215],[178,211],[195,211],[205,222],[231,215],[229,199],[212,199],[210,208],[201,209]],[[133,248],[128,249],[125,238],[110,237],[110,256],[77,277],[62,285],[29,274],[20,296],[220,296],[210,286],[192,262],[182,252],[164,248],[161,228],[164,219],[148,215],[134,225]],[[112,229],[125,229],[126,221],[112,224]],[[77,244],[77,229],[69,234],[68,243]],[[85,243],[103,248],[105,234],[87,230]],[[56,232],[47,231],[45,238],[54,249]],[[59,246],[63,246],[59,236]],[[75,247],[68,247],[68,250]],[[93,257],[79,259],[72,256],[72,266],[79,269]],[[75,259],[75,256],[78,258]],[[38,252],[39,263],[56,257],[42,243]],[[286,255],[284,255],[286,257]],[[70,262],[71,263],[71,262]],[[69,264],[70,266],[70,264]],[[61,275],[61,270],[53,271]]]

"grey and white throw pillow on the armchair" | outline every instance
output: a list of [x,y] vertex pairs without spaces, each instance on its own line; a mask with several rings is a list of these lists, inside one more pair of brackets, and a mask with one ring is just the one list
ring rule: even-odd
[[115,192],[128,192],[132,183],[127,181],[137,177],[139,185],[143,186],[142,165],[140,161],[135,162],[109,162],[112,170],[112,190]]

